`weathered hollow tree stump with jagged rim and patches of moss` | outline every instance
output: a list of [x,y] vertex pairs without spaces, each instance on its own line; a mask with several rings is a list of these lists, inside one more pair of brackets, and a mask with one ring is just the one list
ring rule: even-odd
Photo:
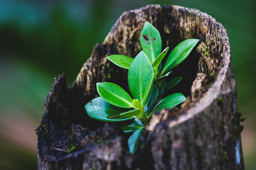
[[[163,49],[200,41],[172,73],[183,80],[170,94],[183,93],[186,102],[154,114],[132,155],[129,136],[114,123],[91,119],[84,105],[98,95],[97,82],[128,90],[127,70],[105,57],[134,58],[146,21],[160,32]],[[244,169],[240,117],[225,28],[196,9],[148,5],[120,16],[69,88],[65,74],[54,79],[36,129],[38,169]]]

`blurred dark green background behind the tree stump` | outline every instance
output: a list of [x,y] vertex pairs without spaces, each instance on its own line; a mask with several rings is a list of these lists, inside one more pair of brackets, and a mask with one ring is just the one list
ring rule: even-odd
[[246,169],[256,168],[256,45],[253,0],[0,1],[0,169],[37,169],[34,129],[54,77],[76,79],[97,42],[122,12],[148,4],[175,4],[206,12],[229,35]]

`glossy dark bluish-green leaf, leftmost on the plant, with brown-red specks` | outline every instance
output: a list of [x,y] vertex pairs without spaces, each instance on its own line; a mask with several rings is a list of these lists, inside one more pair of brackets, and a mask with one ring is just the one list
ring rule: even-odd
[[122,119],[110,119],[110,117],[127,112],[130,109],[116,107],[105,101],[102,97],[91,100],[84,107],[91,118],[103,122],[122,122],[133,119],[130,115],[123,116]]

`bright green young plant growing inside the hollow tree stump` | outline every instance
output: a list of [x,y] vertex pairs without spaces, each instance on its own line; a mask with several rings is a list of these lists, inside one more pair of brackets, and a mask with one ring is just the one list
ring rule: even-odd
[[133,133],[128,139],[132,154],[152,114],[164,108],[173,108],[184,102],[181,93],[163,98],[163,94],[174,87],[182,77],[170,82],[165,78],[171,69],[187,58],[199,40],[188,39],[178,44],[168,56],[162,69],[161,61],[169,47],[162,52],[162,40],[158,30],[146,22],[141,32],[142,51],[133,59],[123,55],[111,55],[107,59],[128,70],[128,85],[132,97],[120,86],[113,83],[97,83],[97,97],[85,105],[87,114],[93,119],[105,122],[120,122],[125,133]]

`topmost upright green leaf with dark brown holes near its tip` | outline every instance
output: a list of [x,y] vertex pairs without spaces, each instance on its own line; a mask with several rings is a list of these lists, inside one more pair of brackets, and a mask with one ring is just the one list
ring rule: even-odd
[[141,47],[150,62],[156,59],[162,50],[162,40],[159,31],[148,21],[145,22],[140,36]]

